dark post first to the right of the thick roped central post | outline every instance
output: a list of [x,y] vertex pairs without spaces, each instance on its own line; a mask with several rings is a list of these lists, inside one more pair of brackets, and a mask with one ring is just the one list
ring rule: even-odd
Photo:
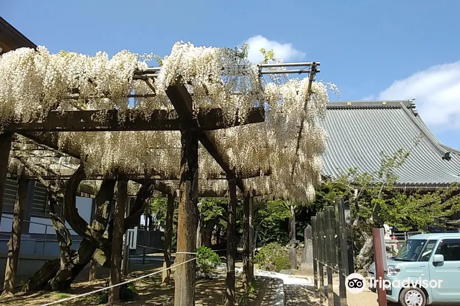
[[225,306],[235,305],[235,253],[236,253],[236,182],[228,180],[230,200],[227,208],[227,276],[225,279]]

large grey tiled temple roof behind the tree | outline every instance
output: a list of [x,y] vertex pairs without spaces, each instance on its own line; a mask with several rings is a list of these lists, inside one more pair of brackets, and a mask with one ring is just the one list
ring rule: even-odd
[[[401,185],[460,181],[460,151],[435,138],[412,101],[331,102],[320,124],[329,134],[324,175],[337,177],[355,167],[374,172],[380,167],[380,152],[393,156],[402,148],[410,155],[396,172]],[[448,152],[450,160],[443,159]]]

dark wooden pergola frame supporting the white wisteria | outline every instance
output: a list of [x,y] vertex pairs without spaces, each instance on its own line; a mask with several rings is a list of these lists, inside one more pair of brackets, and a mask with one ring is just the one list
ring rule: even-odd
[[[307,66],[310,68],[305,69],[291,69],[291,70],[277,70],[277,71],[263,71],[262,68],[267,67],[295,67],[295,66]],[[319,66],[319,62],[307,62],[307,63],[286,63],[286,64],[267,64],[261,65],[262,74],[274,74],[274,73],[310,73],[310,84],[308,95],[311,93],[311,82],[313,82],[315,73],[319,72],[316,67]],[[159,68],[152,67],[147,69],[143,73],[136,73],[135,79],[141,79],[153,89],[149,80],[157,77]],[[222,175],[209,177],[212,180],[228,181],[228,196],[230,198],[228,205],[228,230],[227,230],[227,282],[226,282],[226,305],[234,305],[235,303],[235,226],[236,226],[236,187],[240,189],[241,193],[245,195],[245,206],[250,207],[251,198],[257,196],[254,191],[246,190],[243,179],[249,177],[266,176],[270,175],[271,171],[255,171],[255,173],[249,173],[243,175],[237,169],[234,169],[229,162],[228,157],[224,152],[220,151],[217,146],[216,139],[208,132],[218,129],[226,129],[243,124],[254,124],[264,121],[264,109],[253,108],[244,122],[235,119],[233,122],[227,122],[224,120],[223,111],[221,109],[212,109],[208,111],[201,111],[197,116],[193,116],[192,109],[192,96],[188,92],[185,86],[177,82],[175,85],[170,86],[166,93],[174,107],[174,111],[155,110],[152,113],[150,120],[146,120],[141,117],[127,116],[124,123],[118,121],[118,111],[109,110],[103,120],[95,120],[95,115],[98,111],[64,111],[64,112],[50,112],[45,120],[35,120],[28,123],[12,122],[5,127],[4,132],[0,134],[0,213],[2,212],[3,206],[3,195],[5,188],[5,180],[8,169],[8,157],[10,150],[12,149],[12,143],[14,142],[13,135],[17,133],[24,137],[27,137],[35,143],[37,147],[42,149],[49,149],[54,155],[64,154],[70,157],[81,159],[81,153],[70,148],[59,148],[58,137],[56,133],[59,132],[101,132],[101,131],[180,131],[181,134],[181,158],[180,158],[180,171],[179,175],[175,177],[165,177],[160,173],[155,172],[154,169],[150,169],[150,173],[123,173],[124,180],[133,180],[135,182],[142,183],[143,179],[155,179],[155,189],[164,192],[165,194],[172,194],[174,191],[165,184],[162,185],[161,180],[179,180],[179,218],[177,224],[177,250],[176,264],[188,261],[193,258],[193,253],[196,251],[196,226],[197,226],[197,202],[199,196],[212,196],[212,192],[206,194],[198,193],[198,143],[209,152],[214,160],[222,168]],[[74,98],[73,95],[78,92],[71,92],[69,96],[64,97],[65,99]],[[152,94],[153,95],[153,94]],[[129,113],[129,111],[128,111]],[[298,139],[300,139],[303,129],[303,123],[301,124],[300,131],[298,133]],[[14,150],[13,146],[13,150]],[[297,148],[298,149],[298,148]],[[51,157],[54,157],[51,156]],[[30,158],[33,158],[31,156]],[[65,178],[65,175],[58,175],[61,179]],[[71,175],[68,175],[69,177]],[[223,177],[224,176],[224,177]],[[94,174],[89,176],[88,179],[103,179],[106,175]],[[45,180],[56,179],[53,174],[45,175],[41,177]],[[30,177],[29,179],[36,179],[36,177]],[[119,182],[120,190],[126,191],[124,183]],[[225,194],[214,193],[214,196],[224,196]],[[124,205],[126,200],[126,192],[122,192],[119,195],[119,202],[116,208],[116,214],[123,216]],[[252,209],[244,210],[244,228],[245,231],[251,229]],[[247,223],[247,224],[246,224]],[[123,235],[123,224],[117,224],[114,227],[113,237]],[[194,234],[195,233],[195,234]],[[246,261],[249,262],[248,268],[246,268],[246,281],[250,280],[254,275],[249,254],[249,245],[251,245],[251,235],[244,235],[244,252]],[[253,238],[252,238],[253,239]],[[246,241],[247,240],[247,241]],[[113,264],[119,264],[120,262],[120,248],[114,246],[112,249]],[[175,282],[175,304],[176,305],[191,305],[194,299],[194,285],[195,285],[195,262],[191,261],[187,264],[180,265],[176,268],[176,282]],[[119,282],[119,278],[116,275],[112,275],[112,282]],[[117,290],[115,290],[115,293]],[[118,295],[117,295],[118,296]]]

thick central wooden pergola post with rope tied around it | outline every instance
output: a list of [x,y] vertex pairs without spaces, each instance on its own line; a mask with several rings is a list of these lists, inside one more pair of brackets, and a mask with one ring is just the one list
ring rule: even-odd
[[[198,133],[180,131],[179,212],[174,273],[174,306],[195,304],[196,227],[198,218]],[[186,264],[181,264],[189,261]],[[179,265],[181,264],[181,265]]]

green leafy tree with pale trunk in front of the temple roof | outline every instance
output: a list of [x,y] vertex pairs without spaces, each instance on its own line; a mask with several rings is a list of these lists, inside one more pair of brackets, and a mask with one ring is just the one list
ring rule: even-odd
[[[396,170],[409,157],[409,152],[399,149],[394,156],[381,154],[379,169],[359,172],[349,169],[346,175],[324,181],[316,194],[316,206],[330,205],[336,197],[350,196],[351,223],[354,234],[355,265],[366,271],[373,259],[372,228],[383,224],[396,226],[399,230],[427,229],[440,224],[460,210],[460,195],[456,184],[435,191],[408,193],[396,189]],[[359,250],[359,251],[358,251]]]

